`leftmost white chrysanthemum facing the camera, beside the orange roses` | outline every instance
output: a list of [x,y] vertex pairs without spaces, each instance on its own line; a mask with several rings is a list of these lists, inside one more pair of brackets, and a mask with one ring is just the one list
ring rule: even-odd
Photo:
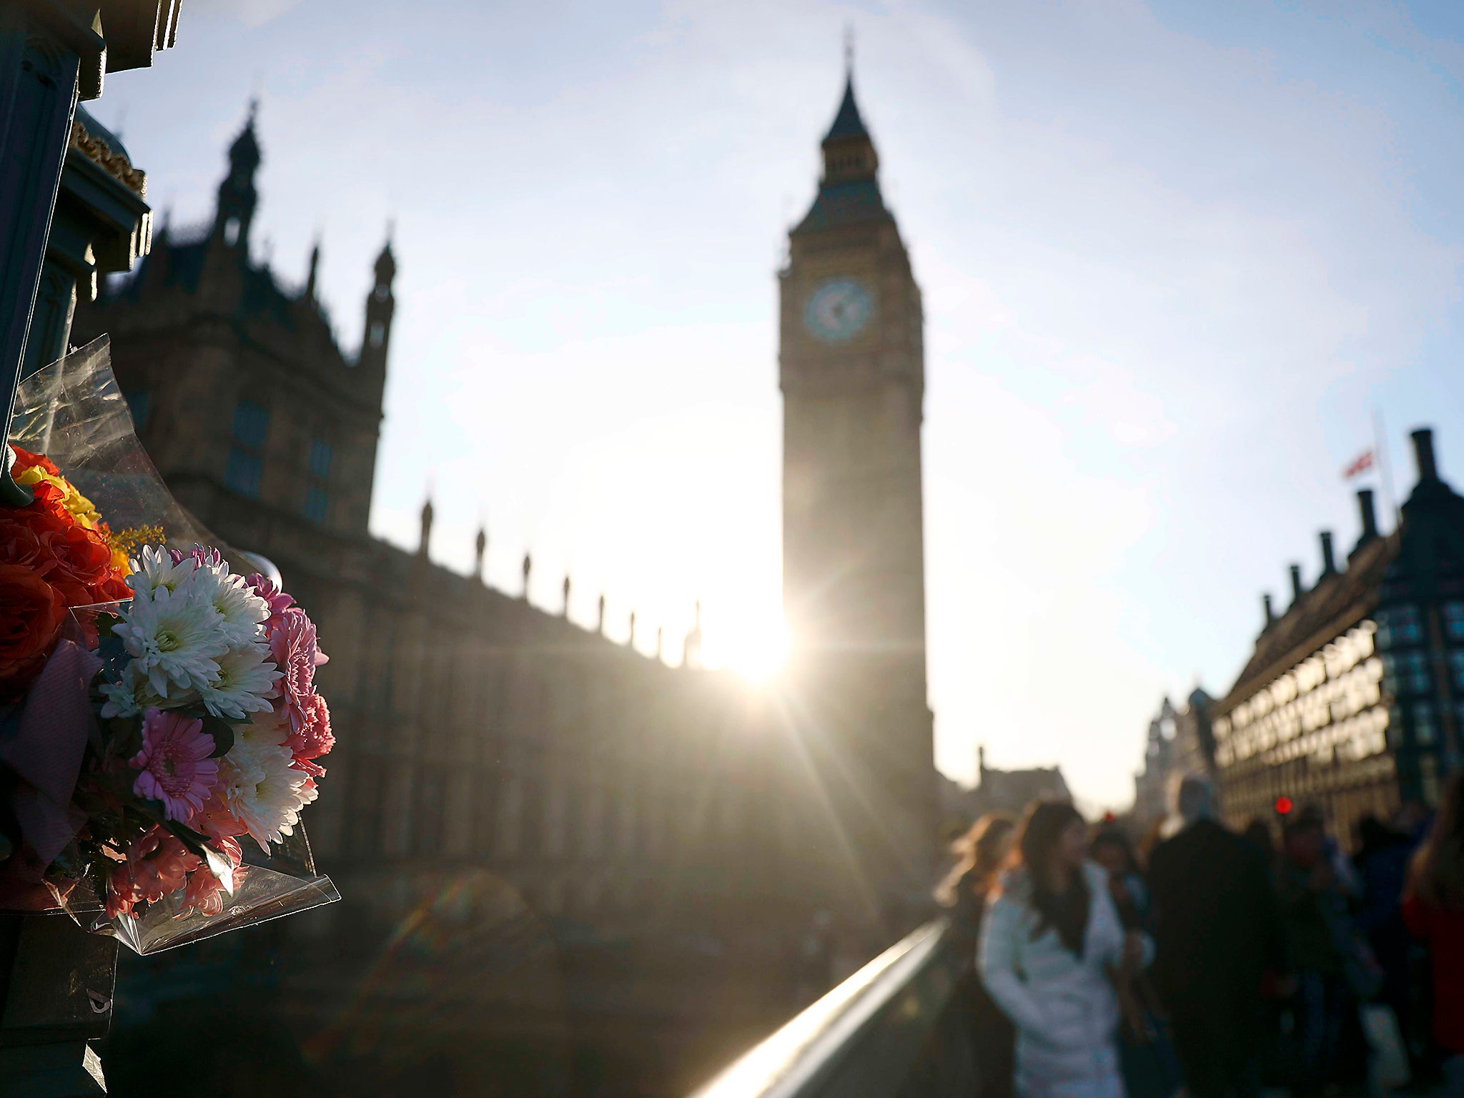
[[212,605],[193,597],[187,584],[138,591],[122,618],[113,632],[161,697],[171,697],[170,687],[189,690],[218,678],[217,657],[228,643]]

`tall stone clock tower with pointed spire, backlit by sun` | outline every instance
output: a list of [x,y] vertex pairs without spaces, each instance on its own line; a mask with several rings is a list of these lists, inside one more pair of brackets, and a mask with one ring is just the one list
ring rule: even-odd
[[[804,741],[868,909],[928,895],[921,293],[852,75],[780,272],[783,615]],[[895,911],[892,911],[895,909]],[[905,919],[896,919],[905,921]]]

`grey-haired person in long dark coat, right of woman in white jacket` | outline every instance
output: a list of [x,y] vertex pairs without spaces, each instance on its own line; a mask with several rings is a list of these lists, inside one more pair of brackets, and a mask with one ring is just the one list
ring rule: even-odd
[[1221,827],[1202,777],[1177,788],[1183,826],[1149,855],[1154,979],[1195,1098],[1244,1098],[1261,1086],[1262,981],[1282,943],[1265,855]]

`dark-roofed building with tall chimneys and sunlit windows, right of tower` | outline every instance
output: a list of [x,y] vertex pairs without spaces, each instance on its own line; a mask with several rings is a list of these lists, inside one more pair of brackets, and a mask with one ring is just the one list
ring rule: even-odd
[[[1378,533],[1370,490],[1362,531],[1338,568],[1321,536],[1307,589],[1291,565],[1291,605],[1215,706],[1215,764],[1228,823],[1316,804],[1350,843],[1364,814],[1432,805],[1460,764],[1464,719],[1464,498],[1438,473],[1433,435],[1413,432],[1417,483],[1398,527]],[[1282,799],[1284,798],[1284,799]]]

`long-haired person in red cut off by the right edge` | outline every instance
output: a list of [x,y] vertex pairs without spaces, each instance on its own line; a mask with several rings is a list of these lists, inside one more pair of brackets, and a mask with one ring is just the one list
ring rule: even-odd
[[1464,772],[1408,865],[1403,921],[1429,947],[1433,1039],[1445,1056],[1446,1094],[1464,1094]]

